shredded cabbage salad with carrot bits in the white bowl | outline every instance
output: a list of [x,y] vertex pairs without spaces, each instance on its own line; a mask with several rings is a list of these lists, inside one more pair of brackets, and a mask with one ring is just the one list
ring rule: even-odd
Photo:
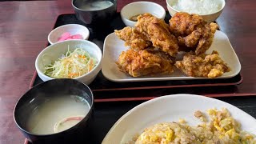
[[51,78],[77,78],[89,73],[97,63],[96,58],[91,57],[81,48],[74,51],[68,49],[66,54],[63,54],[53,64],[45,66],[45,74]]

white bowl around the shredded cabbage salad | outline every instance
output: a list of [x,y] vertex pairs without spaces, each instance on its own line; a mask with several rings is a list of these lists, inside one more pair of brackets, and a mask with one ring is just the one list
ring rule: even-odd
[[89,85],[91,82],[94,81],[94,78],[96,78],[98,72],[102,68],[102,50],[93,42],[81,39],[57,42],[42,50],[42,52],[38,54],[38,57],[35,61],[35,68],[38,72],[39,78],[41,78],[44,82],[50,79],[54,79],[44,74],[45,66],[49,65],[52,62],[55,62],[56,60],[58,60],[58,58],[61,58],[62,54],[66,54],[68,47],[70,51],[73,51],[76,48],[82,48],[83,50],[86,50],[88,54],[91,55],[91,57],[98,59],[98,64],[94,67],[93,70],[91,70],[87,74],[83,74],[80,77],[74,78],[78,81],[84,82],[86,85]]

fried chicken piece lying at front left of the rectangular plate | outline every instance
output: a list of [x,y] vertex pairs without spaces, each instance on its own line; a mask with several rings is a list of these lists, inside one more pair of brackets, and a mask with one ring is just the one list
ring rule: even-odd
[[122,51],[116,63],[121,71],[132,77],[174,72],[170,55],[158,50],[129,49]]

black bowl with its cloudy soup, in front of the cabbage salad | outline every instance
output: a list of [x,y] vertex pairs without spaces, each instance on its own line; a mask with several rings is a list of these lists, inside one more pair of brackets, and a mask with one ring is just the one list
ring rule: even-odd
[[30,143],[81,143],[89,139],[94,95],[70,78],[39,83],[18,100],[14,122]]

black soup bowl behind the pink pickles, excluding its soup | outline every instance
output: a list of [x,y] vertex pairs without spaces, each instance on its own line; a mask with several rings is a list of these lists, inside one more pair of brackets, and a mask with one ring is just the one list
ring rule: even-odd
[[112,6],[102,10],[84,10],[82,6],[95,0],[72,0],[74,13],[78,20],[84,22],[86,26],[101,27],[108,25],[117,11],[117,0],[107,0],[113,3]]

